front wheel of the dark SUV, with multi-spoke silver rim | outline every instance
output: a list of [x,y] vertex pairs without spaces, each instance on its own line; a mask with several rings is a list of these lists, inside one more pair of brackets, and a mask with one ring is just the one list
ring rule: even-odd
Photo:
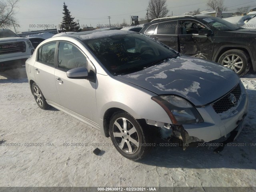
[[224,52],[218,63],[234,70],[239,76],[243,76],[250,69],[250,56],[242,50],[232,49]]

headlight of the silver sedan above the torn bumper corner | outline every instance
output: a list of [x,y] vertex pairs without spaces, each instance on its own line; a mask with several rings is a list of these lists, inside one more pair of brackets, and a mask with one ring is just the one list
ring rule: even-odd
[[151,98],[166,111],[173,124],[192,124],[203,122],[196,108],[185,99],[174,95],[154,96]]

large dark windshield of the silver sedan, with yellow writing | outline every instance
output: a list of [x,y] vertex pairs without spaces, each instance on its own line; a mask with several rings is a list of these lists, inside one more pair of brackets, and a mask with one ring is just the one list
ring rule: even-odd
[[140,34],[122,34],[84,40],[113,75],[129,74],[159,64],[178,53]]

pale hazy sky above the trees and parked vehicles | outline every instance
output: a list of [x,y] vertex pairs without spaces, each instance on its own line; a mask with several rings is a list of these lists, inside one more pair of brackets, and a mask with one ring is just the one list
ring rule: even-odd
[[[18,31],[41,30],[39,24],[57,26],[62,21],[64,0],[20,0],[16,18],[20,24]],[[96,27],[97,24],[121,24],[123,19],[130,23],[130,15],[144,18],[149,0],[65,0],[68,10],[80,26]],[[207,0],[167,0],[169,15],[180,15],[184,12],[207,9]],[[230,12],[236,12],[241,6],[256,7],[256,0],[224,0]],[[241,5],[242,4],[242,5]],[[36,25],[36,27],[30,27]],[[53,27],[55,28],[55,27]]]

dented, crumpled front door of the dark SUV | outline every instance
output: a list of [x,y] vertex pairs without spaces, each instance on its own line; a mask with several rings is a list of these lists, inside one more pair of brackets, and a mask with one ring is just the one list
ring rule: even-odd
[[196,20],[180,20],[178,38],[181,54],[212,60],[214,36],[213,33],[199,35],[204,28],[207,27]]

